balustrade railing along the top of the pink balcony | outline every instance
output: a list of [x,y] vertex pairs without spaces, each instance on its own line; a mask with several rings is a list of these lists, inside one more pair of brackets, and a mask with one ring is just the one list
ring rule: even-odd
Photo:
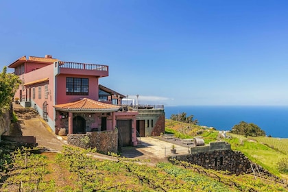
[[87,63],[66,62],[66,61],[60,61],[58,63],[60,68],[108,71],[108,65],[102,65],[102,64],[87,64]]

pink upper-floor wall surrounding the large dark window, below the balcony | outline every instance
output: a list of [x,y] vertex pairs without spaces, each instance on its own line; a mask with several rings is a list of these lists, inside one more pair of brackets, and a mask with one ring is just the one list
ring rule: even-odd
[[[88,78],[89,90],[88,95],[66,95],[66,77],[80,77],[80,78]],[[76,101],[77,99],[87,97],[89,99],[93,99],[98,101],[98,78],[97,77],[89,77],[86,75],[58,75],[56,76],[56,99],[55,105],[57,104],[65,104],[71,101]]]

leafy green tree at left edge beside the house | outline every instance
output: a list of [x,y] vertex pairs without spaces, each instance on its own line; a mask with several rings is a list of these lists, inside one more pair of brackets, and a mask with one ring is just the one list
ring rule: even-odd
[[17,75],[7,73],[7,67],[3,67],[0,73],[0,112],[8,110],[12,99],[21,84]]

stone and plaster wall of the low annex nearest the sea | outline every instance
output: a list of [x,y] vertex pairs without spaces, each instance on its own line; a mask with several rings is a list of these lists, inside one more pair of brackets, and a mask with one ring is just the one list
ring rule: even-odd
[[145,121],[145,136],[160,136],[161,132],[165,132],[165,112],[163,109],[139,109],[138,112],[139,115],[136,119]]

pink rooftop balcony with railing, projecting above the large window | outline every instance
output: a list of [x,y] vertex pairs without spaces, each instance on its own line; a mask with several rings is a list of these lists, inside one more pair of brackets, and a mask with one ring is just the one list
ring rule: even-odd
[[87,64],[80,62],[54,62],[54,73],[69,75],[93,75],[97,77],[108,76],[108,65],[103,64]]

